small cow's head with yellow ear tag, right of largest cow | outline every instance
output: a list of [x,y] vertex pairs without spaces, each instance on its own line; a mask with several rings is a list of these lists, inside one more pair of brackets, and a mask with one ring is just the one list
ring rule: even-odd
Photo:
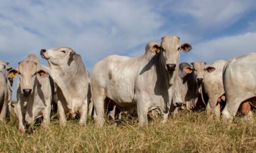
[[193,72],[194,78],[196,78],[196,82],[198,83],[198,85],[201,85],[201,83],[204,81],[205,72],[210,73],[215,70],[214,67],[206,66],[205,62],[197,61],[191,64],[193,65],[193,67],[186,67],[184,68],[184,71],[187,73]]

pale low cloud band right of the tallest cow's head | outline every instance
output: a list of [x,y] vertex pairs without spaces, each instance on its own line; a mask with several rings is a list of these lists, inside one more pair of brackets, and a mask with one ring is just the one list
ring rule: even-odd
[[228,60],[232,57],[241,56],[246,53],[256,52],[256,32],[233,35],[229,37],[215,38],[194,45],[191,56],[185,61],[207,61]]

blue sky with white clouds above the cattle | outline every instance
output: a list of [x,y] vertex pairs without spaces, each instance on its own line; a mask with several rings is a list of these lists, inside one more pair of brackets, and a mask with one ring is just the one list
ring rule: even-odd
[[41,49],[68,46],[91,71],[111,54],[141,56],[166,35],[193,46],[180,62],[255,52],[256,1],[0,1],[0,60],[13,68],[29,53],[47,64]]

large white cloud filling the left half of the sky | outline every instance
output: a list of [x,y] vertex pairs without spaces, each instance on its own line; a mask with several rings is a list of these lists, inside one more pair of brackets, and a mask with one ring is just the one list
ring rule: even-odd
[[69,46],[91,67],[109,54],[160,39],[162,20],[147,1],[5,1],[0,5],[0,52],[38,54],[41,48]]

